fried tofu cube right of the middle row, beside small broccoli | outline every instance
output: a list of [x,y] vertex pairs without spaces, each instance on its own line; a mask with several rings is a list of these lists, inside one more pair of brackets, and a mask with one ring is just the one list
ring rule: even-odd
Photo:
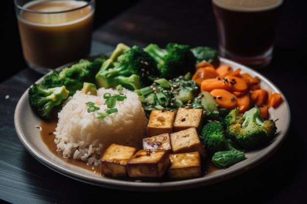
[[202,157],[206,156],[205,147],[200,140],[197,129],[191,127],[170,134],[173,153],[199,152]]

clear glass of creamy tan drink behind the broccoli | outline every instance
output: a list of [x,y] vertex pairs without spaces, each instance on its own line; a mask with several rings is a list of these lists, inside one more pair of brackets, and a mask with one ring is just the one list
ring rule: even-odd
[[46,74],[89,55],[95,0],[14,0],[14,4],[29,68]]

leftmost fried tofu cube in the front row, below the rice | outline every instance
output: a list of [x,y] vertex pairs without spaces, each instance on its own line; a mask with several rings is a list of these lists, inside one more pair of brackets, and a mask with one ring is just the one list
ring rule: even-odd
[[103,153],[101,159],[101,173],[110,177],[126,177],[127,162],[136,153],[135,147],[111,144]]

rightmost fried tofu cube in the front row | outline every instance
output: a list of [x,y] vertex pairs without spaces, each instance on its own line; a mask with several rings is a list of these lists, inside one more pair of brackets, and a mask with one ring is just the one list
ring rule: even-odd
[[201,156],[199,152],[170,154],[171,165],[167,170],[171,180],[184,180],[202,176]]

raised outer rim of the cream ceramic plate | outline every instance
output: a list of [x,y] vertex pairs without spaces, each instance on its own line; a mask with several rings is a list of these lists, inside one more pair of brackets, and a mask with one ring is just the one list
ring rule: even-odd
[[[59,158],[57,158],[51,152],[50,152],[50,154],[52,154],[54,157],[51,156],[51,158],[45,158],[43,155],[41,155],[39,153],[38,147],[36,147],[35,144],[32,144],[28,141],[31,138],[31,136],[26,136],[26,134],[25,134],[25,128],[24,128],[25,125],[22,122],[23,119],[24,119],[24,117],[22,117],[22,115],[23,115],[22,111],[23,111],[23,107],[26,107],[26,106],[28,107],[28,109],[30,109],[30,107],[28,105],[28,92],[27,92],[30,87],[28,87],[26,89],[26,91],[23,93],[23,95],[19,99],[17,106],[15,108],[14,125],[15,125],[17,135],[18,135],[20,141],[22,142],[22,144],[24,145],[24,147],[26,148],[27,152],[30,153],[30,155],[32,155],[35,159],[37,159],[39,162],[41,162],[45,166],[49,167],[50,169],[54,170],[55,172],[57,172],[59,174],[67,176],[71,179],[75,179],[77,181],[82,181],[82,182],[97,185],[97,186],[119,189],[119,190],[129,190],[129,191],[136,191],[136,190],[137,191],[170,191],[170,190],[173,191],[173,190],[182,190],[182,189],[206,186],[206,185],[210,185],[210,184],[213,184],[213,183],[226,181],[230,178],[233,178],[235,176],[243,174],[244,172],[249,171],[252,168],[256,167],[257,165],[259,165],[260,163],[262,163],[263,161],[265,161],[266,159],[271,157],[280,148],[280,146],[282,145],[282,143],[284,142],[284,140],[286,139],[286,137],[289,133],[290,122],[291,122],[291,113],[290,113],[289,104],[288,104],[287,99],[285,98],[284,94],[267,77],[265,77],[264,75],[262,75],[261,73],[259,73],[255,69],[249,68],[245,65],[234,62],[230,59],[223,58],[223,57],[218,57],[218,59],[220,61],[220,64],[230,65],[234,69],[241,68],[242,70],[245,70],[245,71],[247,70],[249,73],[252,72],[253,75],[259,76],[260,79],[261,79],[261,82],[262,81],[263,81],[262,83],[265,82],[265,84],[270,86],[271,89],[274,90],[274,92],[281,93],[281,97],[283,99],[282,104],[285,108],[284,111],[287,113],[287,119],[286,119],[285,124],[284,124],[285,127],[283,127],[285,129],[285,132],[282,132],[281,135],[277,136],[276,140],[274,141],[275,142],[274,147],[271,146],[272,144],[269,144],[267,147],[261,148],[260,150],[261,151],[264,150],[264,153],[259,153],[260,150],[250,151],[253,154],[259,153],[259,155],[256,157],[256,159],[255,158],[252,159],[252,160],[246,159],[247,162],[241,161],[237,164],[234,164],[234,165],[228,167],[227,169],[218,170],[217,171],[218,173],[214,172],[214,173],[207,174],[207,175],[200,177],[200,178],[181,180],[181,181],[165,181],[165,182],[142,181],[142,182],[135,182],[135,181],[126,181],[126,180],[108,178],[108,177],[104,177],[104,176],[101,176],[101,175],[99,175],[99,177],[101,177],[101,178],[98,178],[97,177],[98,175],[94,174],[93,172],[91,172],[93,174],[92,176],[88,176],[87,173],[90,172],[88,170],[84,169],[84,170],[81,170],[79,172],[79,171],[76,171],[76,170],[71,170],[71,168],[65,168],[65,165],[66,165],[64,163],[65,161],[60,160]],[[61,68],[64,68],[64,67],[67,67],[71,64],[73,64],[73,63],[65,64],[65,65],[57,68],[57,70],[60,70]],[[49,73],[51,73],[51,72],[49,72]],[[47,73],[47,74],[49,74],[49,73]],[[42,76],[41,78],[39,78],[35,83],[41,83],[44,77],[45,77],[45,75]],[[27,110],[27,111],[30,112],[30,113],[32,112],[31,110]],[[34,114],[34,113],[32,113],[32,114]],[[33,116],[35,116],[35,115],[33,115]],[[37,124],[37,125],[39,125],[39,124]],[[40,138],[40,134],[38,134],[38,136]],[[41,142],[43,142],[43,141],[41,141]],[[49,151],[48,148],[47,148],[47,150]],[[61,166],[61,164],[63,164],[63,163],[64,163],[64,166]],[[73,168],[75,168],[75,167],[73,167]],[[78,167],[78,168],[80,168],[80,167]],[[85,172],[85,173],[82,174],[83,172]]]

